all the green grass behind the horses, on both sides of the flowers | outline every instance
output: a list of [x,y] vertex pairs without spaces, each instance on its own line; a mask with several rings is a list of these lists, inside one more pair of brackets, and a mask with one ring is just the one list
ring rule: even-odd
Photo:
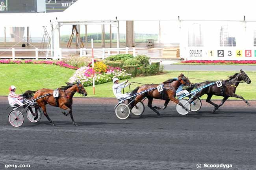
[[[65,85],[65,81],[73,75],[75,71],[72,69],[62,68],[55,65],[45,64],[0,64],[0,95],[8,95],[10,85],[19,86],[22,91],[38,90],[40,88],[57,88]],[[136,77],[130,79],[130,82],[141,82],[145,84],[161,83],[167,79],[177,77],[180,73],[187,75],[187,71],[171,71],[161,75],[148,77]],[[204,80],[220,80],[226,79],[229,75],[234,75],[232,71],[190,71],[189,79],[191,82],[203,82]],[[256,71],[248,71],[247,75],[252,80],[251,84],[239,84],[236,93],[243,96],[247,100],[256,100]],[[201,79],[201,80],[196,80]],[[120,81],[122,82],[122,80]],[[99,84],[95,86],[95,95],[93,95],[92,87],[85,87],[88,97],[114,97],[112,92],[112,82]],[[140,84],[135,84],[140,86]],[[130,86],[130,90],[135,86]],[[125,88],[128,91],[128,87]],[[21,93],[17,87],[17,93]],[[81,97],[76,94],[75,96]],[[203,96],[205,99],[206,96]],[[214,96],[212,99],[222,99],[222,97]],[[235,98],[231,98],[235,99]]]

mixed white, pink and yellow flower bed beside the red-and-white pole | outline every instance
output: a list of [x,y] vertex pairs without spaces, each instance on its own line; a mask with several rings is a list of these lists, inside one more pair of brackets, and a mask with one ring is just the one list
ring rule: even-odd
[[[105,66],[103,63],[98,63],[98,66],[103,69],[98,69],[98,72],[95,72],[94,77],[95,77],[95,84],[102,84],[106,82],[111,82],[114,77],[119,78],[120,80],[122,79],[129,79],[131,78],[131,74],[126,73],[124,69],[121,68],[113,68],[113,67],[107,67],[105,69]],[[69,82],[74,83],[76,80],[80,80],[80,82],[83,83],[83,86],[92,86],[93,85],[93,70],[89,66],[84,66],[76,70],[74,75],[70,77]],[[102,71],[103,70],[103,71]],[[100,72],[99,72],[100,71]]]

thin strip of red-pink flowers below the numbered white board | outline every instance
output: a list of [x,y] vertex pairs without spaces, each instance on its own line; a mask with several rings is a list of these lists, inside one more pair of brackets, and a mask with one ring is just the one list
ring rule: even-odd
[[204,64],[256,64],[253,60],[228,61],[228,60],[187,60],[181,63],[204,63]]

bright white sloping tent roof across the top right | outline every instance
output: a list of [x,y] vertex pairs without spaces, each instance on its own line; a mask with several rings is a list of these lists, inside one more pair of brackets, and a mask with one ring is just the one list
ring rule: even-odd
[[78,0],[59,21],[256,20],[251,0]]

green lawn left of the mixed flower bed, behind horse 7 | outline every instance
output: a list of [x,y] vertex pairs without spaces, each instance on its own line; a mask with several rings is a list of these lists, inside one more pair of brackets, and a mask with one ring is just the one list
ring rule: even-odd
[[[17,94],[26,90],[57,88],[65,84],[75,70],[48,64],[0,64],[0,95],[8,95],[10,85]],[[19,88],[20,89],[19,89]]]

